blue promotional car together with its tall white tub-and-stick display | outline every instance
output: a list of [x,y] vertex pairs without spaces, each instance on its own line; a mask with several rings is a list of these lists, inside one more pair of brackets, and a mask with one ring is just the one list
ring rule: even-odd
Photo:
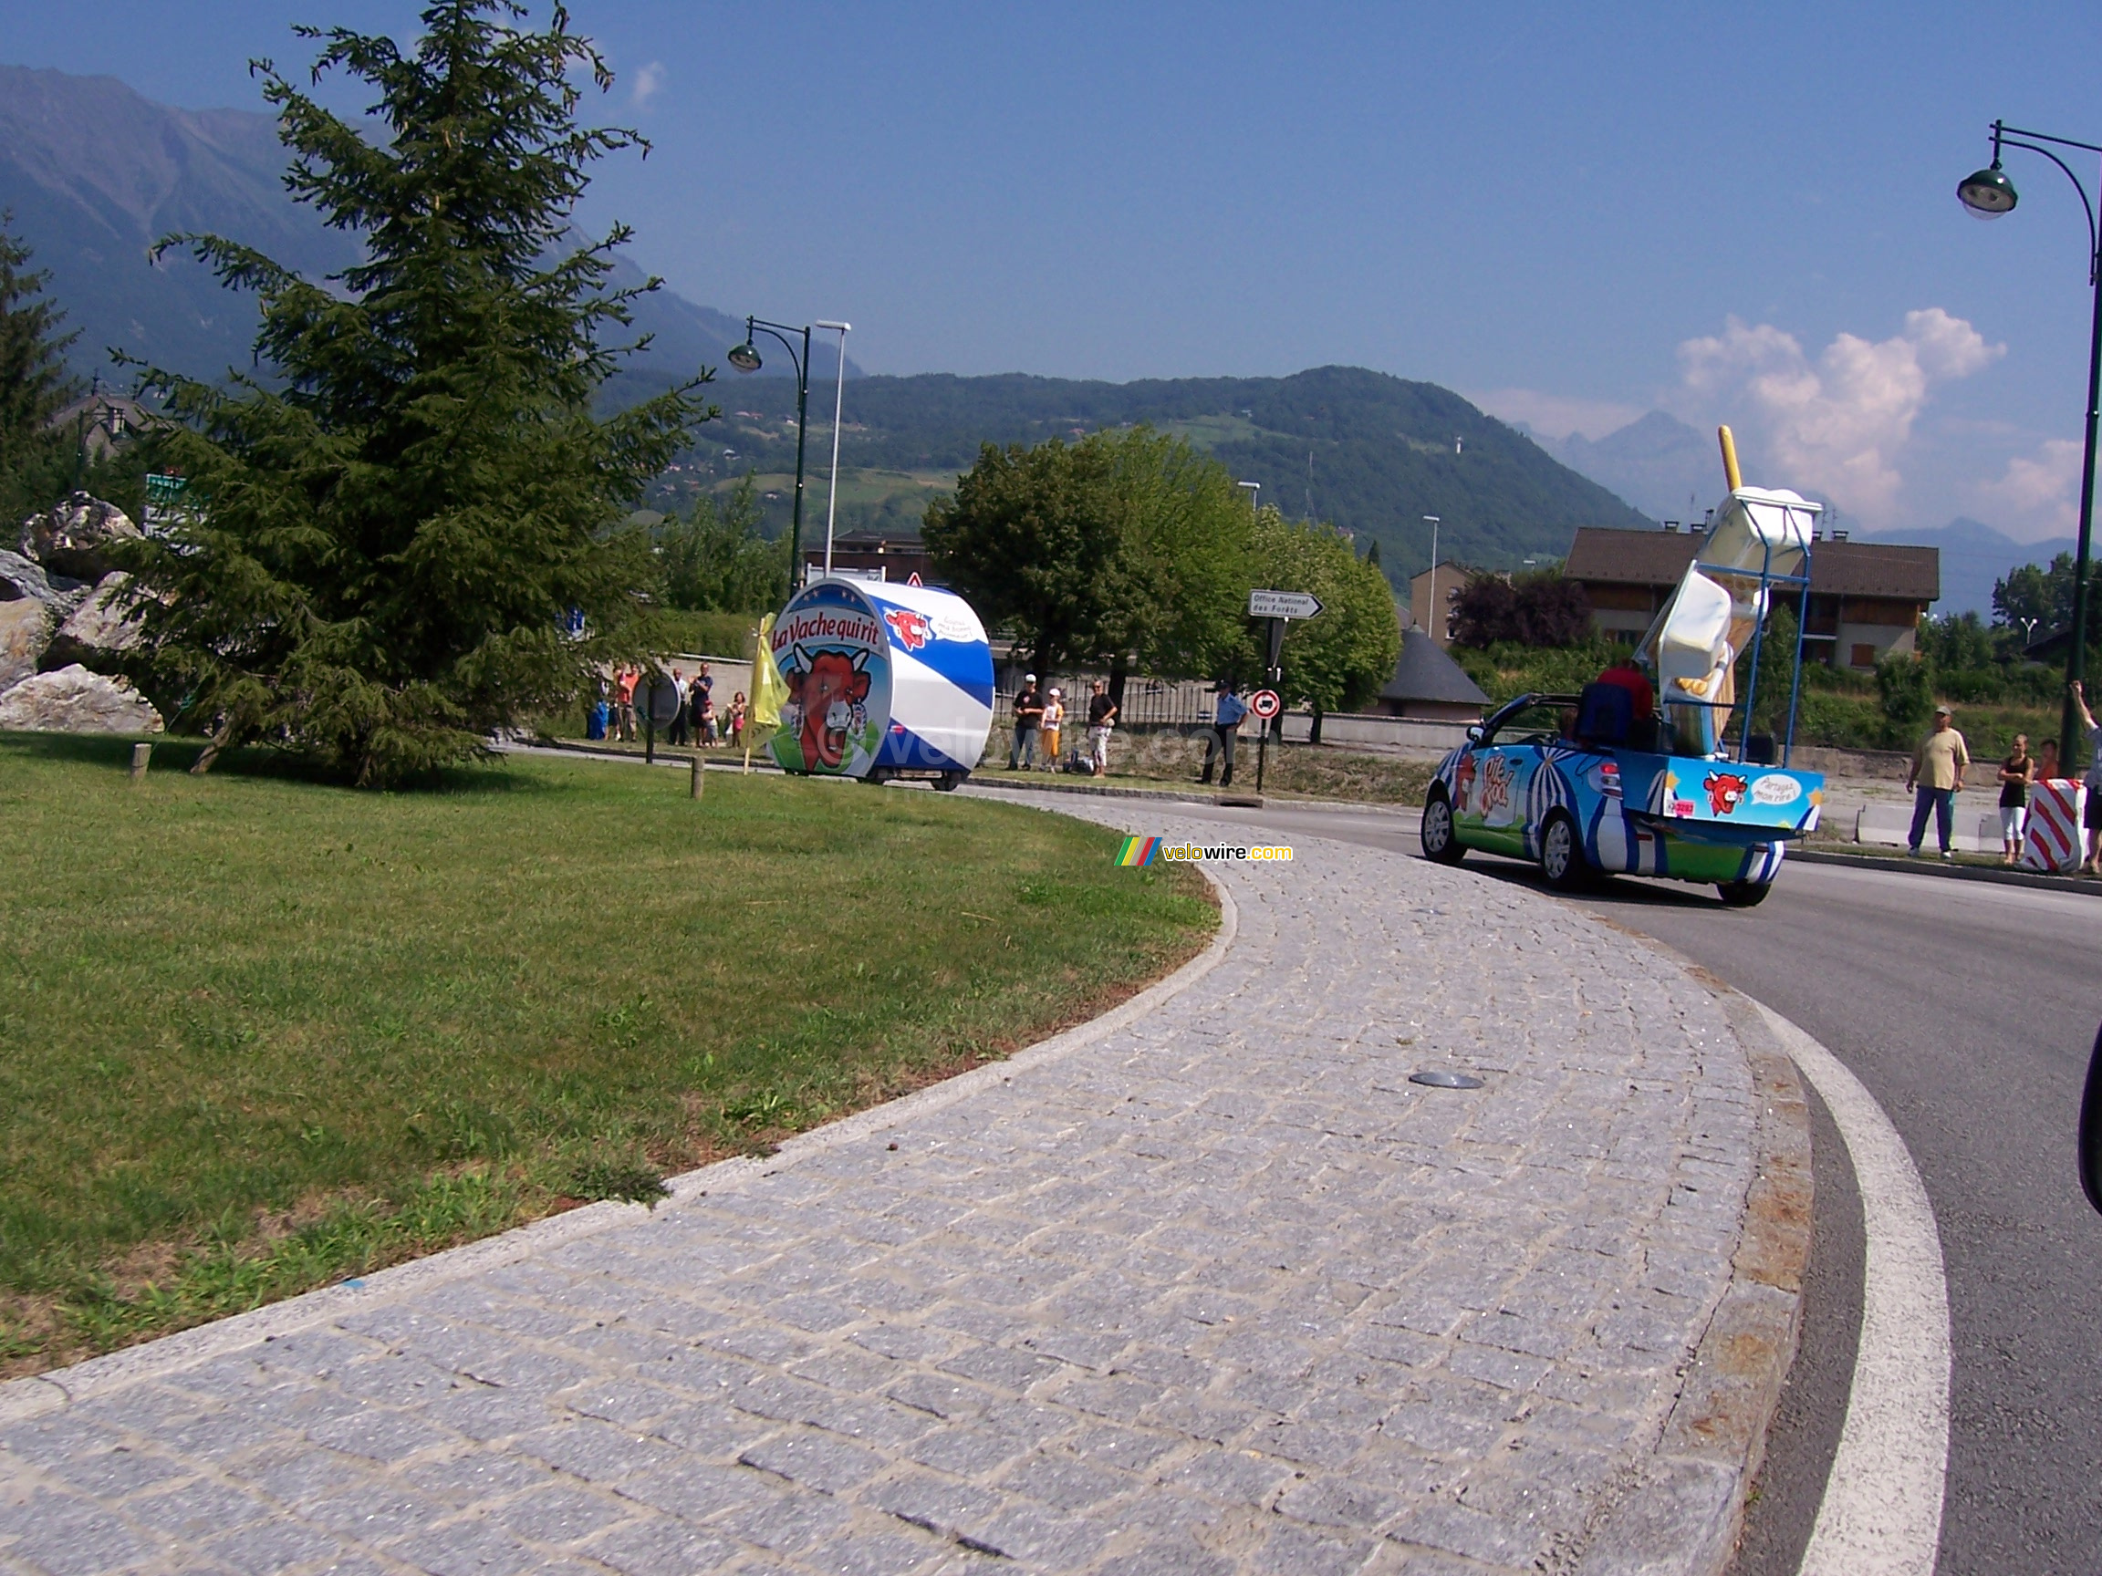
[[[1520,696],[1467,729],[1423,803],[1427,857],[1537,859],[1555,889],[1595,874],[1713,883],[1749,908],[1772,889],[1787,843],[1816,830],[1825,777],[1789,769],[1799,635],[1778,767],[1751,719],[1772,599],[1808,590],[1820,506],[1743,485],[1730,429],[1719,437],[1730,496],[1635,649],[1654,691],[1637,700],[1648,679],[1616,670],[1576,696]],[[1732,740],[1740,654],[1753,681]]]

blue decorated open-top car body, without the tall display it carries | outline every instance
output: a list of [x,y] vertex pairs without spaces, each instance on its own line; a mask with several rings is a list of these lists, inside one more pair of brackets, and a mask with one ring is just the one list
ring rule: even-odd
[[[1761,901],[1791,838],[1816,830],[1825,777],[1673,754],[1665,729],[1595,721],[1585,696],[1520,696],[1438,763],[1423,853],[1532,859],[1549,887],[1598,874],[1713,883],[1734,908]],[[1610,700],[1610,698],[1608,698]]]

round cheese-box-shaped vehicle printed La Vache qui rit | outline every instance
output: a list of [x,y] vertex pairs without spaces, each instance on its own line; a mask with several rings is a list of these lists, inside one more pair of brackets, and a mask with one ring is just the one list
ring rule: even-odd
[[788,687],[767,744],[782,771],[956,788],[992,729],[992,649],[948,590],[816,580],[774,620]]

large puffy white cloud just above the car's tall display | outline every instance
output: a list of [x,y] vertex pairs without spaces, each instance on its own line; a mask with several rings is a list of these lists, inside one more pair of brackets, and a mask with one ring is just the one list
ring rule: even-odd
[[1793,334],[1732,317],[1722,334],[1679,345],[1679,403],[1732,422],[1776,469],[1751,481],[1822,494],[1888,525],[1904,485],[1898,462],[1934,387],[2005,351],[1940,307],[1909,311],[1885,340],[1837,334],[1816,361]]

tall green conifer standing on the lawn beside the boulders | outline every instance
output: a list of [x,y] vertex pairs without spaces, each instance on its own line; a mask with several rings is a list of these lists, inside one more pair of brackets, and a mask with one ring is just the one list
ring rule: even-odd
[[628,229],[580,242],[574,208],[593,162],[645,149],[578,126],[578,78],[612,86],[599,53],[559,6],[538,32],[511,0],[441,0],[420,25],[406,48],[296,29],[315,82],[374,88],[378,132],[252,65],[286,189],[359,240],[355,267],[315,282],[238,240],[162,242],[261,303],[254,372],[145,376],[189,511],[132,551],[132,605],[151,683],[210,729],[200,769],[265,740],[399,784],[563,704],[641,647],[656,567],[622,519],[715,414],[706,374],[593,414],[637,349],[605,343],[637,292],[605,288]]

